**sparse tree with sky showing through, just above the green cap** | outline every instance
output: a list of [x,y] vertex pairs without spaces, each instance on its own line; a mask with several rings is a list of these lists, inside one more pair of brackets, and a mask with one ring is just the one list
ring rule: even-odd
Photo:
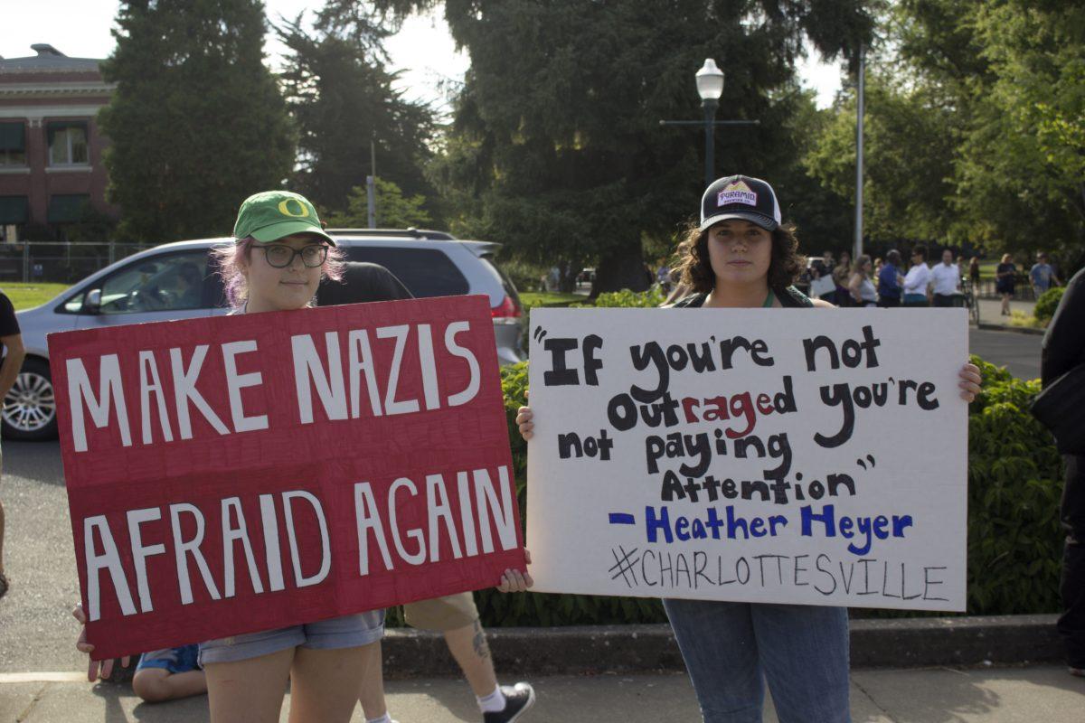
[[314,36],[299,21],[279,29],[292,51],[283,81],[301,132],[297,188],[315,203],[346,210],[352,190],[373,175],[375,155],[379,178],[433,196],[422,172],[432,155],[433,113],[392,89],[395,76],[380,44],[386,30],[337,26],[323,11]]

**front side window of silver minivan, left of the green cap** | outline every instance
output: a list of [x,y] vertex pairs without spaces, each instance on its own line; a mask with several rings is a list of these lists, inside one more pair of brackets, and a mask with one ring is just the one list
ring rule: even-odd
[[135,261],[103,280],[100,313],[199,309],[206,271],[204,249]]

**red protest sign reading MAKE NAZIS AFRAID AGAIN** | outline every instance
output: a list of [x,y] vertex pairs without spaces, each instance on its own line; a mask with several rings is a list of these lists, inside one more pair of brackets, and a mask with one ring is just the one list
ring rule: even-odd
[[49,337],[95,658],[523,567],[485,297]]

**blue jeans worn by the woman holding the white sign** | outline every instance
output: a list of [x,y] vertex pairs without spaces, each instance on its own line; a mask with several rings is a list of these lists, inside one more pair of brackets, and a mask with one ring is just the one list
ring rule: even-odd
[[847,610],[664,599],[704,723],[850,723]]

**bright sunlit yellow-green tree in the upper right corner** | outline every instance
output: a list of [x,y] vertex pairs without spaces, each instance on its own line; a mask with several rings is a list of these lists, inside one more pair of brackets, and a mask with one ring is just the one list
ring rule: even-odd
[[[904,0],[901,51],[960,128],[953,206],[992,250],[1085,254],[1085,8]],[[915,72],[918,72],[916,74]]]

